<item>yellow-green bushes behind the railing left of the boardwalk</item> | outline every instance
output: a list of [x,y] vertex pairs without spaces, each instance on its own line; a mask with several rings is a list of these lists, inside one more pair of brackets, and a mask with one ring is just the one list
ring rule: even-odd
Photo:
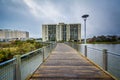
[[11,59],[14,55],[22,55],[43,46],[41,43],[35,42],[35,40],[16,40],[11,43],[0,43],[0,45],[2,45],[2,48],[0,48],[0,62]]

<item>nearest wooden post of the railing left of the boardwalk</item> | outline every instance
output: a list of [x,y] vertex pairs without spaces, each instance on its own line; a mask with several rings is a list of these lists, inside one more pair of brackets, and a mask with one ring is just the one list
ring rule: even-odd
[[21,80],[21,57],[20,55],[15,55],[15,80]]

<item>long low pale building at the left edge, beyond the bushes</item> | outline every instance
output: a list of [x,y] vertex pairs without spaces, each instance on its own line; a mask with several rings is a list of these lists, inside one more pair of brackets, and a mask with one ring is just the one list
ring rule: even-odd
[[28,38],[29,32],[26,31],[0,29],[0,41],[25,40]]

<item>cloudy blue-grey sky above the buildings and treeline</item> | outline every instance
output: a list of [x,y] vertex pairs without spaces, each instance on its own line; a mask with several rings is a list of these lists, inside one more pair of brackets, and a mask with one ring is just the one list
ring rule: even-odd
[[80,23],[84,37],[120,35],[120,0],[0,0],[0,29],[28,31],[42,37],[42,24]]

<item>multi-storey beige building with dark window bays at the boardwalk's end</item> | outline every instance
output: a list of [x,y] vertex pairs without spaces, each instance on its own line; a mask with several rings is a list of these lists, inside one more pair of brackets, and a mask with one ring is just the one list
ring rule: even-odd
[[42,39],[45,41],[81,42],[81,24],[43,24]]

